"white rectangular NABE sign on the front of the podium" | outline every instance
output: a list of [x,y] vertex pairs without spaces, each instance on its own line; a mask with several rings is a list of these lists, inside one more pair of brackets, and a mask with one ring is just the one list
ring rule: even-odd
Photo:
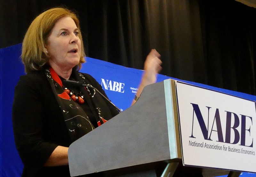
[[176,82],[183,165],[256,172],[255,102]]

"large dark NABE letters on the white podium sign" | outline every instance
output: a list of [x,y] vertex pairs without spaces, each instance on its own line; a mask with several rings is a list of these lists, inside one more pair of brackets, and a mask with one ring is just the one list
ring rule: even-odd
[[[199,108],[198,104],[190,104],[193,107],[193,114],[191,115],[192,129],[191,135],[189,136],[190,138],[196,138],[198,136],[202,137],[203,135],[203,138],[209,141],[214,140],[222,143],[238,144],[241,146],[253,147],[253,138],[251,137],[252,117],[226,110],[219,110],[218,108],[213,109],[209,106],[201,106]],[[202,114],[201,109],[206,109],[207,111],[204,110],[204,113],[207,114]],[[225,117],[220,117],[220,111],[222,111],[221,115],[225,115]],[[193,134],[193,128],[196,123],[200,126],[200,130],[202,132],[201,135],[198,133],[196,135],[195,133]],[[222,130],[223,125],[226,125],[225,131]],[[214,132],[216,132],[218,135],[215,139],[212,138],[212,133]],[[231,133],[233,134],[232,141],[230,138]],[[223,134],[225,135],[225,139]],[[251,153],[255,155],[254,151]]]

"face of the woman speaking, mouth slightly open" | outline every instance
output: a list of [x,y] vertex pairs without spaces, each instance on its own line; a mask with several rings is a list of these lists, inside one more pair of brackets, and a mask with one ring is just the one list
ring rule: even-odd
[[62,17],[56,22],[45,46],[50,56],[51,67],[69,70],[79,63],[81,40],[78,33],[72,18]]

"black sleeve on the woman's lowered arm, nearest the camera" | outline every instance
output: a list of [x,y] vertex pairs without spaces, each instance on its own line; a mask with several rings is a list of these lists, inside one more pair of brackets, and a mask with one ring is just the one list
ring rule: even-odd
[[25,166],[43,166],[58,146],[45,142],[43,138],[44,105],[40,99],[42,95],[39,88],[38,81],[26,75],[20,77],[14,92],[12,107],[14,139]]

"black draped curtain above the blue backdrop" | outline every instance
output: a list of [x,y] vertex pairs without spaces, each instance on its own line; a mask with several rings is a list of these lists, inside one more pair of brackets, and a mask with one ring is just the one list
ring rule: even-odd
[[79,16],[87,56],[143,69],[151,48],[161,74],[255,95],[256,9],[234,0],[2,0],[0,47],[21,43],[42,11]]

